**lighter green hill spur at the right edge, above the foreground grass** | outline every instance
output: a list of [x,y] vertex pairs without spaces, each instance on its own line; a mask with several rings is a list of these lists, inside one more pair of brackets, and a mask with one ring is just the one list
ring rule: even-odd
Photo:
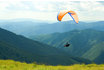
[[[89,54],[89,55],[88,55]],[[89,51],[87,51],[83,57],[90,58],[97,63],[104,64],[104,42],[94,45]],[[100,62],[99,62],[100,61]]]

